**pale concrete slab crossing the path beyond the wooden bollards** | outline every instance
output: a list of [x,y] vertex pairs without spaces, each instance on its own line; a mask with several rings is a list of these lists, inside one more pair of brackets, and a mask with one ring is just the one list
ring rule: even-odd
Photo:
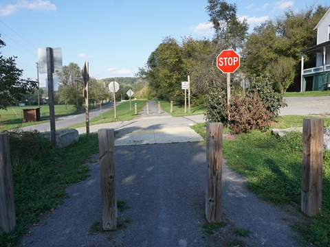
[[179,143],[202,141],[203,138],[188,126],[162,128],[156,130],[137,130],[115,140],[115,146],[144,145],[155,143]]

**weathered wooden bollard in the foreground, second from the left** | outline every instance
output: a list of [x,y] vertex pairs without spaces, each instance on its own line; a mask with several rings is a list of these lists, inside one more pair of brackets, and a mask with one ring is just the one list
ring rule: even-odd
[[117,198],[115,192],[114,130],[98,130],[100,152],[100,181],[102,197],[102,227],[104,231],[117,227]]

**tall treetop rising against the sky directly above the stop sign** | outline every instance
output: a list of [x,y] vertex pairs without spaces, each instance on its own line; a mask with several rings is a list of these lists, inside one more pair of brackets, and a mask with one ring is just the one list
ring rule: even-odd
[[213,24],[217,42],[225,43],[225,49],[242,49],[249,26],[246,19],[239,20],[236,3],[208,0],[206,10]]

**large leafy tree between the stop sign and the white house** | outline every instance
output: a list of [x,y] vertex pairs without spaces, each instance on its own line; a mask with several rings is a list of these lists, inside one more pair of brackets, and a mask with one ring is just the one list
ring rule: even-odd
[[[294,12],[287,10],[282,16],[268,20],[254,28],[242,52],[243,69],[248,75],[258,76],[271,68],[283,58],[292,58],[295,78],[289,84],[299,87],[300,84],[300,51],[316,45],[316,27],[318,21],[327,11],[322,5],[312,5],[306,10]],[[286,60],[288,62],[289,60]],[[309,63],[309,57],[305,59]],[[292,67],[292,60],[289,62]],[[277,68],[278,69],[278,68]],[[284,73],[284,70],[282,70]],[[275,75],[275,73],[272,73]],[[285,74],[285,73],[284,73]],[[291,73],[286,73],[291,78]],[[282,75],[283,76],[283,75]],[[285,84],[288,83],[285,80]],[[286,87],[286,86],[285,86]],[[285,91],[286,89],[283,88]]]

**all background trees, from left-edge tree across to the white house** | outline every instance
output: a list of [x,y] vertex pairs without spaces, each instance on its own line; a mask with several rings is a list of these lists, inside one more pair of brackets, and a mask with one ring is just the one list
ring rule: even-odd
[[[107,86],[111,81],[120,83],[118,100],[127,99],[126,91],[134,97],[173,100],[184,104],[181,82],[190,75],[192,104],[205,103],[205,97],[215,86],[224,87],[225,75],[216,67],[216,57],[223,49],[234,49],[241,55],[241,67],[232,77],[232,86],[239,88],[241,80],[266,76],[278,93],[300,88],[300,51],[316,45],[314,27],[327,11],[327,6],[311,5],[294,12],[286,10],[281,16],[267,20],[248,33],[246,19],[239,19],[235,3],[208,0],[206,12],[214,28],[212,38],[164,38],[150,54],[146,65],[139,68],[137,78],[107,78],[89,81],[91,104],[111,99]],[[5,43],[0,40],[0,48]],[[32,102],[37,89],[33,80],[22,80],[14,57],[0,54],[0,107],[15,104],[25,97]],[[314,55],[307,55],[304,67],[315,66]],[[78,64],[70,63],[58,74],[59,90],[55,99],[60,104],[74,104],[79,110],[84,102],[83,80]],[[12,86],[14,83],[14,86]],[[42,93],[44,93],[42,91]]]

